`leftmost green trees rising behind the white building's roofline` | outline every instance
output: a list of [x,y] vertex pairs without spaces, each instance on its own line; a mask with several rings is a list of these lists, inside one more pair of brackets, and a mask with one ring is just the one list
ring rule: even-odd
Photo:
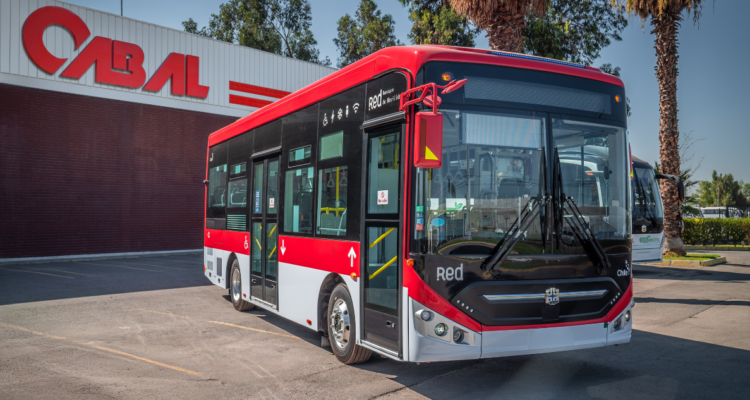
[[311,21],[307,0],[229,0],[211,14],[208,26],[198,29],[192,18],[182,26],[185,32],[330,65],[327,57],[320,59]]

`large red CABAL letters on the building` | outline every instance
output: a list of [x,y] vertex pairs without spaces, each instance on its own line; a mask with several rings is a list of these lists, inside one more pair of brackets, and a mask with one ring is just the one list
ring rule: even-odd
[[[48,74],[57,72],[68,60],[53,56],[44,46],[44,30],[52,25],[62,26],[73,35],[75,49],[91,36],[81,17],[65,8],[47,6],[31,13],[23,25],[23,47],[31,61]],[[96,63],[96,82],[139,88],[146,82],[143,59],[140,46],[97,36],[60,76],[80,79]],[[172,94],[205,99],[209,88],[198,83],[198,62],[196,56],[170,53],[143,90],[158,92],[171,79]]]

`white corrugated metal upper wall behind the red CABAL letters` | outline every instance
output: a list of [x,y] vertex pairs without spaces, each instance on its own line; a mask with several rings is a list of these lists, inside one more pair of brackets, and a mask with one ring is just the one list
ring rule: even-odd
[[[74,50],[73,38],[67,30],[59,26],[52,26],[46,30],[44,41],[50,53],[56,57],[68,58],[54,75],[49,75],[34,65],[26,54],[21,39],[21,29],[26,18],[36,9],[45,6],[57,6],[72,11],[86,22],[91,31],[91,35],[86,41],[77,50]],[[96,83],[94,82],[94,68],[89,68],[80,80],[61,78],[60,73],[96,36],[140,46],[145,55],[143,67],[148,78],[172,52],[200,57],[200,84],[210,87],[208,97],[199,99],[175,96],[169,92],[169,84],[164,85],[160,92],[153,93],[144,92],[141,88],[128,89]],[[333,71],[335,71],[333,68],[207,39],[179,30],[59,1],[0,0],[0,74],[66,82],[71,85],[132,92],[143,96],[156,96],[251,112],[255,108],[229,102],[230,80],[293,92]],[[21,85],[24,85],[23,80],[14,81],[12,77],[8,76],[0,81],[11,84],[19,84],[20,82]],[[78,90],[77,92],[80,93],[81,91]],[[92,95],[95,96],[106,97],[101,95],[101,91],[97,91],[98,94],[93,93]],[[113,97],[116,98],[117,96]],[[260,95],[255,97],[264,100],[276,100]],[[188,104],[185,104],[185,108],[196,109]],[[236,114],[236,112],[232,114]]]

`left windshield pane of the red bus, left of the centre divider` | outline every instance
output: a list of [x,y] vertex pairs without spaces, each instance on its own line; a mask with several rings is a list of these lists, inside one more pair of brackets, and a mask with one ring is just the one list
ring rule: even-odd
[[[430,253],[488,255],[541,194],[545,119],[441,112],[443,165],[417,170],[415,239]],[[541,235],[541,223],[533,222],[516,251],[542,253]]]

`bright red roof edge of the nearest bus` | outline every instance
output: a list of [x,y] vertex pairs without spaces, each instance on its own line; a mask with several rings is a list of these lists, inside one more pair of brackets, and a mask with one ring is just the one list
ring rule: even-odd
[[[503,57],[503,55],[506,56]],[[209,135],[208,145],[213,146],[224,142],[234,136],[311,104],[315,104],[329,96],[366,82],[372,77],[390,70],[406,70],[411,74],[413,79],[417,70],[429,61],[458,61],[525,68],[573,75],[624,87],[619,78],[603,73],[596,68],[562,63],[549,58],[509,52],[491,52],[490,50],[468,47],[441,45],[394,46],[379,50],[219,129]]]

